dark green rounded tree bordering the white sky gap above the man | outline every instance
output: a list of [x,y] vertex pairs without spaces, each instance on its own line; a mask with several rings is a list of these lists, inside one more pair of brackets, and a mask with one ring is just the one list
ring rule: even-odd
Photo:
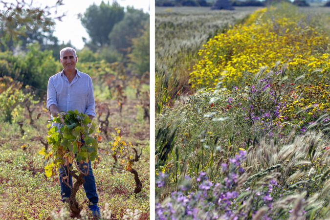
[[91,38],[91,43],[100,47],[110,44],[109,33],[113,26],[123,18],[124,8],[116,1],[112,5],[102,1],[100,6],[95,4],[89,6],[81,18],[81,22]]

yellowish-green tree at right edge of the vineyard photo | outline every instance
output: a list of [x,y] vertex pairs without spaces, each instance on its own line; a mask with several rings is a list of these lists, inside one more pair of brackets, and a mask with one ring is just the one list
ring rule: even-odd
[[149,23],[141,37],[132,40],[132,53],[129,54],[130,67],[142,75],[150,71],[150,28]]

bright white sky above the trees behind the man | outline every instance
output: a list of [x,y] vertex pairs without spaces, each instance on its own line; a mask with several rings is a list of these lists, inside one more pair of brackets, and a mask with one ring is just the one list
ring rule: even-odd
[[[16,2],[16,0],[5,1]],[[30,1],[31,0],[25,0],[25,2]],[[55,5],[56,1],[57,0],[33,0],[33,5]],[[93,3],[100,5],[101,2],[102,0],[63,0],[64,5],[57,8],[58,14],[53,14],[54,17],[63,13],[66,14],[66,16],[62,18],[62,22],[55,20],[56,24],[54,26],[54,36],[58,38],[60,41],[59,43],[67,43],[70,41],[76,49],[82,49],[84,47],[83,37],[85,37],[88,41],[90,38],[86,29],[81,24],[78,14],[84,14],[86,9]],[[104,0],[104,2],[108,3],[108,0]],[[125,8],[127,6],[133,6],[136,9],[143,9],[144,12],[150,14],[150,0],[117,0],[117,2]],[[112,4],[112,0],[109,0],[109,3]]]

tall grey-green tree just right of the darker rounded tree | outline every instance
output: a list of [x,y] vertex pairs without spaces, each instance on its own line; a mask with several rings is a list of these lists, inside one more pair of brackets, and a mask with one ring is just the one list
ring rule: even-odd
[[109,34],[111,46],[124,55],[128,54],[132,39],[141,36],[147,22],[149,22],[149,14],[127,7],[124,19],[116,23]]

